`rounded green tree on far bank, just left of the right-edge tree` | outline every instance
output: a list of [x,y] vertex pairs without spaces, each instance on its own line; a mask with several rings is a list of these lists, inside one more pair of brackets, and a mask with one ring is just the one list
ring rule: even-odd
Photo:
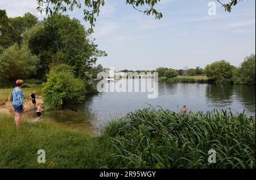
[[205,75],[213,80],[230,79],[235,67],[224,60],[213,62],[205,67]]

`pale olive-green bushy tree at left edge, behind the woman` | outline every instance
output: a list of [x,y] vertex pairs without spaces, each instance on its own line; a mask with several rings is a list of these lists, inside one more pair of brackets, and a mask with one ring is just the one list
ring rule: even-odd
[[35,76],[38,62],[39,58],[26,45],[12,45],[0,55],[0,82]]

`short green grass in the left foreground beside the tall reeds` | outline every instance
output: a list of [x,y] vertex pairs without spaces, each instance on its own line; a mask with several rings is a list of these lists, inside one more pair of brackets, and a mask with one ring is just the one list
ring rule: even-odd
[[[22,123],[16,131],[10,116],[0,115],[0,168],[102,168],[111,153],[109,141],[48,122]],[[46,152],[39,164],[38,150]]]

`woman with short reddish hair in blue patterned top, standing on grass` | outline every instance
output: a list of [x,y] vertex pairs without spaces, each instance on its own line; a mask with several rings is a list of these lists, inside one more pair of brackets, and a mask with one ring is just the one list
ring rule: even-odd
[[16,128],[19,128],[20,119],[22,118],[22,112],[24,111],[23,106],[23,92],[21,90],[21,86],[23,81],[18,79],[16,81],[16,87],[13,89],[13,107],[15,111],[15,124]]

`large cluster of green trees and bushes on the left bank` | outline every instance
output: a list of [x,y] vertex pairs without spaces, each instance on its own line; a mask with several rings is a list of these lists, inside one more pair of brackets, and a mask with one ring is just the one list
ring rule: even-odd
[[51,108],[79,103],[82,94],[94,91],[93,65],[101,56],[106,53],[75,18],[57,14],[39,21],[29,12],[9,18],[0,10],[1,86],[14,85],[15,79],[39,79],[46,82],[44,98],[55,98]]

